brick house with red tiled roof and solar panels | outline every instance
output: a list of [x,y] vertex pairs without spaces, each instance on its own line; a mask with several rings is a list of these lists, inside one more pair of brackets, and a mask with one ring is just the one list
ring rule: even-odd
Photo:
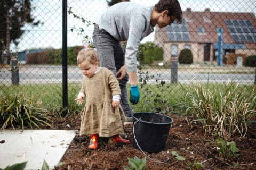
[[193,61],[215,61],[218,57],[218,28],[223,29],[223,54],[256,54],[256,18],[253,13],[183,12],[181,24],[156,27],[154,43],[164,50],[164,61],[189,48]]

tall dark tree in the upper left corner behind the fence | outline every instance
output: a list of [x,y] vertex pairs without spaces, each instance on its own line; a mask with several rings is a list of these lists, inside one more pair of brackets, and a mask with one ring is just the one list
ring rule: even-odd
[[39,21],[35,22],[30,14],[33,10],[30,0],[1,0],[0,7],[0,63],[3,63],[1,56],[4,52],[7,63],[10,63],[10,43],[19,44],[18,39],[25,32],[22,30],[25,23],[37,26]]

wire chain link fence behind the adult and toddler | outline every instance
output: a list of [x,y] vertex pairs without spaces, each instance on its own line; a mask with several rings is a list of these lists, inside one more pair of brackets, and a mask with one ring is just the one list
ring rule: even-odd
[[[62,1],[11,2],[0,3],[4,9],[0,20],[0,90],[26,92],[48,98],[46,104],[58,103],[62,100]],[[158,1],[134,2],[154,6]],[[141,99],[132,106],[134,111],[159,112],[155,105],[178,105],[182,100],[179,84],[232,81],[252,89],[256,82],[256,3],[179,2],[182,23],[162,29],[156,26],[141,41]],[[68,104],[73,105],[82,80],[76,55],[84,40],[92,41],[93,24],[109,4],[105,0],[67,3]],[[28,13],[30,18],[24,19]]]

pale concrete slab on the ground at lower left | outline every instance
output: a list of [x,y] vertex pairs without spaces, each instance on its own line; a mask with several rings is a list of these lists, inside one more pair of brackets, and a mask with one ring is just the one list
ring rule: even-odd
[[0,130],[0,168],[28,161],[25,169],[41,170],[45,160],[54,169],[74,137],[75,130]]

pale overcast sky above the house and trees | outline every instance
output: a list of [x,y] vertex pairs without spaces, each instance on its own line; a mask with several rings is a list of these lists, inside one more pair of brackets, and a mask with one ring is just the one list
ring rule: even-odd
[[[154,6],[157,1],[141,0],[133,1],[145,6]],[[183,11],[191,8],[192,11],[204,11],[210,8],[214,12],[252,12],[256,14],[256,1],[242,0],[180,0]],[[11,45],[12,50],[21,51],[31,48],[61,48],[62,46],[62,1],[61,0],[32,0],[31,4],[34,8],[32,14],[35,20],[41,21],[43,24],[39,27],[31,27],[26,25],[23,30],[25,33],[20,38],[18,48],[14,44]],[[72,11],[78,16],[83,16],[86,20],[97,22],[98,16],[108,8],[106,0],[68,0],[68,7],[72,7]],[[75,19],[68,14],[68,46],[82,45],[83,36],[79,35],[79,31],[71,32],[71,28],[83,28],[84,35],[92,37],[93,27],[87,27],[81,20]],[[154,32],[142,40],[154,41]]]

